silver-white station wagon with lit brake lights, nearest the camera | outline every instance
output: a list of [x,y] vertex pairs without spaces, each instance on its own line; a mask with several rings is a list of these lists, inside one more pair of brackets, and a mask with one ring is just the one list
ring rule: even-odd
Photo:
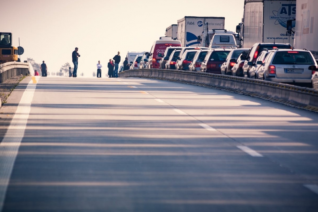
[[312,86],[312,74],[317,63],[308,50],[274,49],[269,51],[264,63],[259,68],[259,76],[264,80]]

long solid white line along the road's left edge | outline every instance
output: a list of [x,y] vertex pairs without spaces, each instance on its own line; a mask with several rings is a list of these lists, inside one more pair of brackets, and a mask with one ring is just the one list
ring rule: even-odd
[[33,76],[32,80],[28,83],[20,103],[17,106],[17,111],[0,143],[0,211],[2,211],[3,208],[3,201],[7,192],[13,165],[24,136],[26,123],[31,110],[31,101],[38,78],[39,76]]

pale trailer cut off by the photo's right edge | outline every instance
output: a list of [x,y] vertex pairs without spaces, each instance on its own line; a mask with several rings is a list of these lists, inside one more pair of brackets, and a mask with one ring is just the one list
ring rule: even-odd
[[317,9],[317,0],[296,1],[295,49],[318,51]]

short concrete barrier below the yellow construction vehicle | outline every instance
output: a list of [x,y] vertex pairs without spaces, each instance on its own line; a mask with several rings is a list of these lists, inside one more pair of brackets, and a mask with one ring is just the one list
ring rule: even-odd
[[9,62],[0,64],[0,83],[13,76],[30,75],[33,73],[30,68],[33,70],[30,63]]

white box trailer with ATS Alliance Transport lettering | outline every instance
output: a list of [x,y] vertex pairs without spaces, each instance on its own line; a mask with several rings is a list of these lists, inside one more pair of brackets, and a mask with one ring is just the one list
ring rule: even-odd
[[[297,0],[298,1],[298,0]],[[243,48],[255,43],[290,43],[287,21],[296,17],[296,0],[245,0],[243,17]]]

